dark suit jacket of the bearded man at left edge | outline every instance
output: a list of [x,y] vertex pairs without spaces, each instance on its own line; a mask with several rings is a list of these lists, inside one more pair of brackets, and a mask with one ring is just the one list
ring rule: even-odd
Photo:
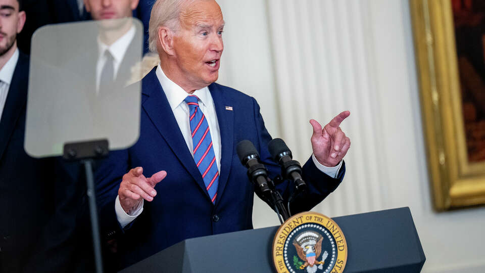
[[[37,164],[40,162],[31,159],[23,150],[28,71],[29,58],[21,53],[0,120],[0,206],[4,208],[0,210],[1,272],[20,271],[39,233],[39,229],[31,226],[42,222],[44,216],[31,214],[30,203],[18,202],[20,195],[35,202],[50,190],[36,187],[37,192],[31,191],[31,185],[18,181],[19,172],[24,172],[22,176],[26,179],[34,180],[35,175],[31,173],[42,168]],[[39,202],[41,211],[46,211],[49,206]]]

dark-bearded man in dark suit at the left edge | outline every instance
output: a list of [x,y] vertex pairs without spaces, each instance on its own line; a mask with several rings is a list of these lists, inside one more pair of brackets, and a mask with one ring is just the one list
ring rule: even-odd
[[[36,187],[35,173],[41,166],[23,149],[27,100],[28,56],[17,49],[17,34],[25,23],[25,12],[17,0],[0,0],[0,271],[18,272],[29,256],[44,220],[32,213],[30,202],[45,202],[45,188]],[[19,183],[19,171],[24,172]],[[25,180],[24,180],[25,178]],[[25,183],[31,179],[30,183]],[[32,188],[32,186],[35,187]],[[35,192],[39,190],[39,192]],[[21,196],[20,196],[21,195]],[[20,198],[22,197],[22,198]],[[18,202],[25,200],[24,202]],[[27,216],[27,217],[26,217]]]

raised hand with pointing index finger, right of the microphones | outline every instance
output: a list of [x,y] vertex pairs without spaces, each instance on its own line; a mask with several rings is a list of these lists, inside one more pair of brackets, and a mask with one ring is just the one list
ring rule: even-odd
[[323,129],[316,120],[310,120],[310,124],[313,126],[311,138],[313,154],[320,164],[334,167],[347,154],[350,148],[350,139],[339,126],[349,115],[349,111],[338,114]]

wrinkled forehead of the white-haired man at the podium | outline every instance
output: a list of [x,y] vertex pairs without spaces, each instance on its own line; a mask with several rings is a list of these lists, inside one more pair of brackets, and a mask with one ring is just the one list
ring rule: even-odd
[[224,25],[221,8],[214,0],[196,0],[185,5],[180,11],[180,22],[184,28]]

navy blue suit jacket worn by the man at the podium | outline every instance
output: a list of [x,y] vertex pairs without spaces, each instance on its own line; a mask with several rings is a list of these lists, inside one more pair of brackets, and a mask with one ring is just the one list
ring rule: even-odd
[[[253,228],[254,186],[236,154],[239,141],[249,140],[255,145],[270,177],[280,171],[271,161],[267,148],[271,136],[255,99],[212,83],[209,90],[219,121],[222,150],[218,194],[213,205],[155,70],[142,80],[139,140],[127,150],[112,152],[96,174],[105,233],[122,234],[119,243],[121,267],[187,238]],[[226,110],[226,106],[233,110]],[[116,231],[114,201],[121,177],[137,166],[143,167],[146,176],[166,170],[167,177],[155,187],[154,200],[144,202],[143,212],[125,230]],[[309,210],[322,201],[340,184],[344,172],[345,166],[338,178],[331,178],[318,170],[310,158],[303,166],[309,192],[299,199],[300,202],[293,203],[292,212]],[[293,185],[288,181],[276,187],[285,199],[293,192]]]

